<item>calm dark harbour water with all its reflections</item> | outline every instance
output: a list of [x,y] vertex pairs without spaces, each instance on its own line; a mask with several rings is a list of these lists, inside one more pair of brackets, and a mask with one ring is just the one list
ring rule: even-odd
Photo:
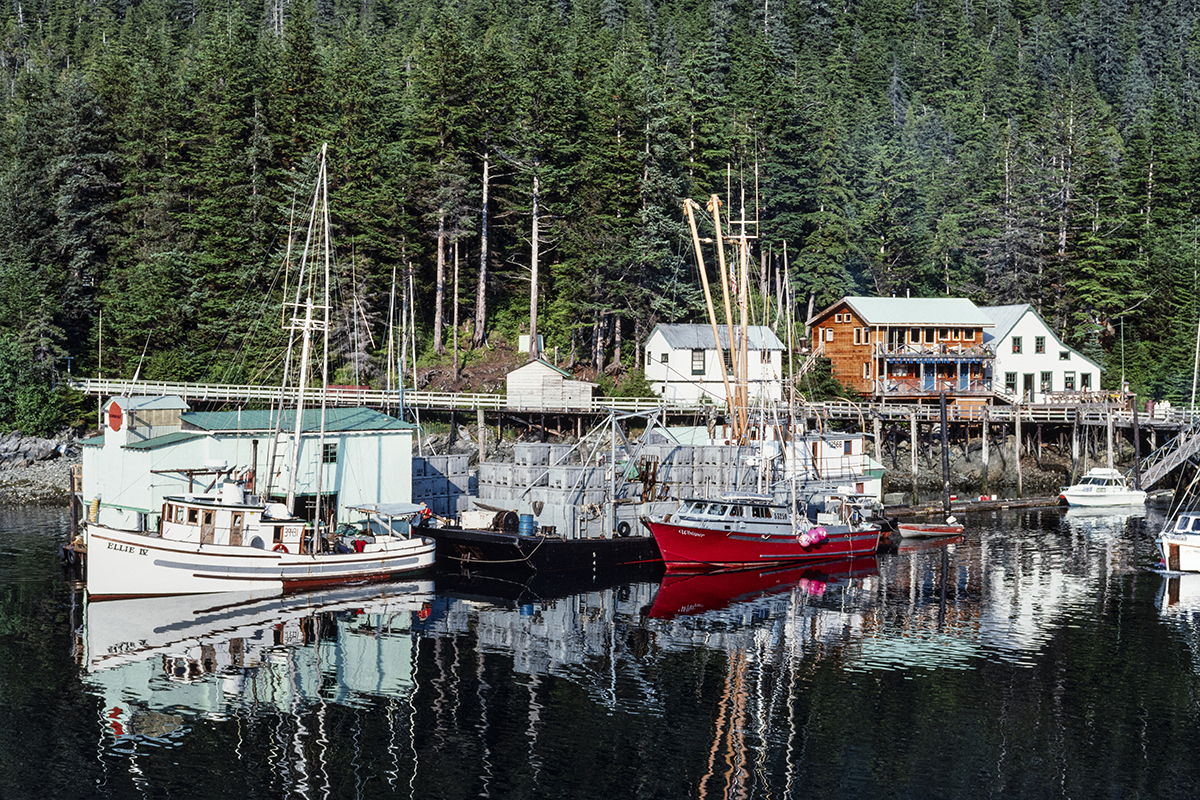
[[774,573],[89,606],[66,513],[0,510],[0,798],[1200,793],[1162,517],[966,522]]

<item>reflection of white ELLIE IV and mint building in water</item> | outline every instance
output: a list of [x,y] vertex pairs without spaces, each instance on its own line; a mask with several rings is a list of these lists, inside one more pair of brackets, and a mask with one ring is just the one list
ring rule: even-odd
[[84,682],[118,738],[168,741],[188,721],[413,690],[412,625],[432,581],[254,599],[238,593],[89,603]]

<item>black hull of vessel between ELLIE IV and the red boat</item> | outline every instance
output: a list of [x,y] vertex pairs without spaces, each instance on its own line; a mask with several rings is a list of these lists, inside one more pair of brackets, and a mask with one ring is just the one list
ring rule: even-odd
[[654,539],[644,535],[564,539],[469,528],[428,528],[421,534],[438,543],[439,559],[472,567],[558,572],[662,561]]

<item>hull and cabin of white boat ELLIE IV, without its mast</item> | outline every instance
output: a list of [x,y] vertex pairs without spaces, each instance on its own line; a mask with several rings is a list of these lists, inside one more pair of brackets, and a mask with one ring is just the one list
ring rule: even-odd
[[392,522],[421,509],[376,507],[365,524],[318,537],[283,504],[247,497],[236,483],[167,498],[156,531],[88,525],[88,594],[92,600],[212,591],[266,596],[389,581],[433,566],[433,540]]

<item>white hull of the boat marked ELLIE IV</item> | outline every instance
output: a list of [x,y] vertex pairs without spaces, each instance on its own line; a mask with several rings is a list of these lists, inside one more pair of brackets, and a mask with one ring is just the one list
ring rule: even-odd
[[390,581],[433,566],[434,542],[412,539],[395,549],[298,554],[198,545],[88,525],[88,595],[151,597],[248,591],[262,596],[322,587]]

